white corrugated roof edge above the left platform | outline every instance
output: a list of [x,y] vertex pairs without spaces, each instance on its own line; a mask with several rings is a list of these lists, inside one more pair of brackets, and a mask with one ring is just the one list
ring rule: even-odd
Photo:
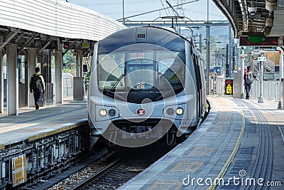
[[93,41],[124,25],[96,11],[62,0],[0,0],[0,25],[50,36]]

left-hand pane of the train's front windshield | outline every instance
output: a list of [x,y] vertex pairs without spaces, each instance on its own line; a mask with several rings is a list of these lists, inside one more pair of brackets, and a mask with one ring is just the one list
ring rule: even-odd
[[102,54],[98,61],[99,89],[124,90],[125,53]]

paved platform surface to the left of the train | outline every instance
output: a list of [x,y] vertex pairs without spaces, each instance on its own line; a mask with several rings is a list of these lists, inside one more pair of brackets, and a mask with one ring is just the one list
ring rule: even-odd
[[22,107],[18,115],[0,115],[0,149],[7,144],[33,140],[87,124],[87,101],[68,101],[65,104]]

